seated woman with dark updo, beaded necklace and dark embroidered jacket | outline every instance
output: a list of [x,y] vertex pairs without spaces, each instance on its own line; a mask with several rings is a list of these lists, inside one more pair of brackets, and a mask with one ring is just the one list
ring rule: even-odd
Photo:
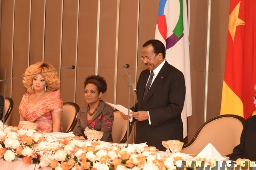
[[86,127],[102,131],[103,136],[100,140],[113,142],[112,126],[114,112],[112,107],[106,105],[100,97],[107,91],[106,80],[100,75],[88,76],[84,81],[84,98],[88,103],[87,107],[80,109],[76,125],[76,135],[84,136]]

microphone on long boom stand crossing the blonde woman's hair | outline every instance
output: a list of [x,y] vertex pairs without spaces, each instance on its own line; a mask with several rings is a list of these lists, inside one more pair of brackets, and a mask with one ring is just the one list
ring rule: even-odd
[[[38,75],[38,74],[42,74],[42,73],[48,73],[48,72],[52,72],[52,71],[58,71],[58,70],[63,70],[63,69],[74,69],[76,68],[74,65],[71,65],[69,67],[66,67],[66,68],[62,68],[62,69],[55,69],[55,70],[51,70],[51,71],[44,71],[44,72],[41,72],[41,73],[35,73],[35,74],[30,74],[30,75]],[[12,77],[12,78],[9,78],[9,79],[6,79],[6,73],[7,73],[7,67],[5,67],[5,79],[3,80],[0,80],[0,82],[4,81],[4,110],[3,110],[3,124],[4,124],[4,116],[5,116],[5,94],[6,94],[6,83],[8,82],[8,80],[10,79],[16,79],[16,78],[21,78],[21,77],[26,77],[26,76],[30,76],[30,75],[22,75],[22,76],[19,76],[19,77]]]

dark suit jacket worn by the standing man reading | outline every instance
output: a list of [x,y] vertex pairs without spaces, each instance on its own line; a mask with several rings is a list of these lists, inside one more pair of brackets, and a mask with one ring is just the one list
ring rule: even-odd
[[181,71],[165,61],[142,103],[149,74],[148,69],[140,74],[137,85],[138,102],[134,111],[149,111],[151,125],[148,120],[137,121],[136,143],[147,142],[148,146],[156,146],[164,151],[166,148],[162,146],[162,140],[183,141],[181,112],[186,93],[185,79]]

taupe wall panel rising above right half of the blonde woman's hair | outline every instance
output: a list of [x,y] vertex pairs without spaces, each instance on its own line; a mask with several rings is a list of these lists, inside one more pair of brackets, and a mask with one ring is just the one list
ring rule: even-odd
[[62,0],[46,0],[44,61],[52,65],[60,63],[61,31]]

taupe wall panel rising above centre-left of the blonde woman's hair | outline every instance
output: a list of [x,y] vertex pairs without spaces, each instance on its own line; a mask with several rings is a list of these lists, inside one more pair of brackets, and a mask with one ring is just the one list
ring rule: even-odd
[[30,64],[44,59],[45,0],[31,1]]

